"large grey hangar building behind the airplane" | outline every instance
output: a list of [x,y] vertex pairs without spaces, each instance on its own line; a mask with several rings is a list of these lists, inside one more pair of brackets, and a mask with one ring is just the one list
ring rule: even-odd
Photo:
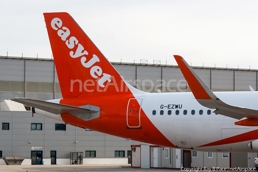
[[[122,62],[112,64],[129,84],[140,90],[191,91],[178,66]],[[193,69],[212,91],[249,91],[249,85],[255,90],[258,88],[256,69],[217,67],[193,67]],[[0,100],[14,97],[40,100],[62,98],[53,59],[0,56],[0,74]],[[2,101],[2,103],[5,102]],[[105,164],[122,164],[130,162],[130,146],[140,144],[140,142],[126,141],[108,134],[60,124],[58,121],[37,114],[32,117],[30,107],[26,108],[28,111],[23,112],[3,111],[1,108],[0,158],[24,156],[24,164],[41,164],[42,160],[45,164],[70,164],[70,152],[81,152],[84,164],[97,164],[100,161]],[[171,148],[171,152],[177,152],[179,158],[183,157],[180,151]],[[199,158],[200,155],[205,157],[206,154],[198,152]],[[197,153],[192,153],[193,158],[195,155]],[[214,153],[215,155],[217,153]],[[241,156],[248,159],[249,154],[241,154]],[[192,163],[199,165],[195,160]],[[4,162],[0,161],[0,164]],[[180,166],[182,165],[181,163]],[[204,166],[204,163],[200,166]]]

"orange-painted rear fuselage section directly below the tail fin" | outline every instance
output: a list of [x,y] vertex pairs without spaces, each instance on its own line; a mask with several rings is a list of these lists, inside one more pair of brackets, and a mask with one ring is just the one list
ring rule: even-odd
[[[131,95],[123,96],[96,96],[61,99],[61,104],[67,105],[94,105],[100,107],[99,118],[84,121],[69,113],[61,114],[62,120],[68,124],[87,128],[94,131],[111,134],[122,138],[131,138],[139,142],[151,143],[175,148],[149,120],[144,111],[140,112],[142,129],[127,129],[127,104]],[[136,119],[137,120],[137,119]],[[138,118],[139,120],[139,118]]]

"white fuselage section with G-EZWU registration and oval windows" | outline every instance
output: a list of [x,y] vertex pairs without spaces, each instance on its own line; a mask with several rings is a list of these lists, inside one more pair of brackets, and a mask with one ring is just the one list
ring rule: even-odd
[[[258,108],[258,103],[255,101],[258,98],[257,91],[214,92],[214,94],[231,105]],[[228,145],[224,145],[224,148],[223,145],[197,146],[221,140],[222,128],[235,128],[232,129],[233,132],[227,133],[228,137],[258,129],[258,127],[234,125],[234,122],[239,120],[227,116],[216,115],[215,113],[208,115],[207,110],[209,109],[200,105],[191,92],[134,94],[134,97],[143,99],[142,110],[157,129],[174,145],[177,145],[175,135],[188,135],[191,147],[194,150],[216,152],[225,150]],[[162,109],[161,105],[163,105]],[[181,108],[177,106],[177,109],[175,109],[175,105],[180,105]],[[172,106],[174,108],[171,109]],[[156,110],[156,115],[152,114],[153,110]],[[164,111],[163,115],[160,115],[160,110]],[[168,110],[171,110],[171,115],[168,115]],[[179,115],[175,114],[176,110],[179,110]],[[183,114],[184,110],[187,110],[186,115]],[[195,115],[191,115],[191,110],[195,110]],[[203,110],[202,115],[199,114],[199,110]],[[214,110],[212,109],[211,112]],[[251,152],[252,150],[247,147],[248,142],[250,141],[231,144],[232,147],[229,152]]]

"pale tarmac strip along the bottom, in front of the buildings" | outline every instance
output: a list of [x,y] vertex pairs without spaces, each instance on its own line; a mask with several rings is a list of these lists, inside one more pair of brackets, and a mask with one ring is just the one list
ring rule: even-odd
[[[127,165],[0,165],[0,172],[198,172],[180,169],[140,169]],[[200,171],[200,170],[199,170]],[[206,171],[209,172],[209,171]],[[210,171],[220,172],[220,171]],[[221,171],[222,172],[222,171]],[[254,171],[253,171],[254,172]]]

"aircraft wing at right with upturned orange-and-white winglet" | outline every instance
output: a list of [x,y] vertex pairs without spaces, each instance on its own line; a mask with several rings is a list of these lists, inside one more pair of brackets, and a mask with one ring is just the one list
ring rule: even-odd
[[258,118],[257,109],[229,105],[221,101],[181,56],[174,55],[174,58],[194,97],[201,105],[216,109],[214,112],[217,114],[238,120],[242,118]]

